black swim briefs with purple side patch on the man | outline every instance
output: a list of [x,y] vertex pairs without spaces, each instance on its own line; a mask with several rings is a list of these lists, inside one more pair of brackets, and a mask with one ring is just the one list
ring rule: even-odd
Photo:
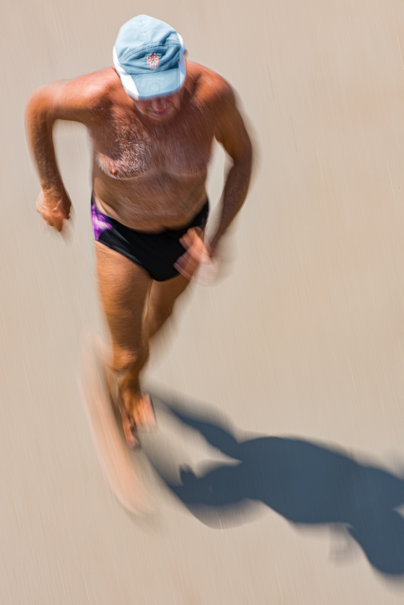
[[209,215],[209,201],[192,219],[191,223],[180,229],[165,229],[161,233],[145,233],[129,229],[111,217],[99,211],[91,198],[94,237],[111,250],[116,250],[133,263],[149,272],[156,281],[170,280],[178,275],[174,263],[185,252],[178,240],[191,227],[204,228]]

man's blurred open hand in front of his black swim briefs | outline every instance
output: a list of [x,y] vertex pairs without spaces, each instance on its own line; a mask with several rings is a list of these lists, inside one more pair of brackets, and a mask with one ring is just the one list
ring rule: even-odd
[[187,280],[200,281],[197,279],[197,269],[203,264],[206,268],[204,273],[204,283],[212,282],[216,276],[216,266],[213,264],[213,255],[210,247],[203,241],[203,231],[200,227],[188,229],[185,235],[181,237],[180,244],[184,246],[186,252],[174,263],[175,269]]

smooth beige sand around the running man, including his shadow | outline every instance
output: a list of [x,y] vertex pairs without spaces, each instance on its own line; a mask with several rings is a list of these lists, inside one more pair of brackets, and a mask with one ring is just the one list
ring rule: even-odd
[[[152,356],[158,506],[140,519],[77,387],[100,325],[85,130],[56,129],[64,240],[35,212],[22,119],[37,86],[110,64],[137,13],[230,80],[257,150],[231,275],[194,289]],[[402,2],[17,0],[0,30],[1,603],[403,603]]]

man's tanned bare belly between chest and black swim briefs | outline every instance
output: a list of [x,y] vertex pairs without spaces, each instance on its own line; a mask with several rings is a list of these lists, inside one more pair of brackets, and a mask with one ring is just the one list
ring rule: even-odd
[[149,233],[189,223],[206,200],[205,175],[177,178],[161,174],[119,180],[93,173],[94,201],[103,214]]

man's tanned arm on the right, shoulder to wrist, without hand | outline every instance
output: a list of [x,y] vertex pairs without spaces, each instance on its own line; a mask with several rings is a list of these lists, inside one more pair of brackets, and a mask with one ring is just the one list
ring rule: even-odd
[[220,103],[220,118],[215,138],[232,159],[233,166],[227,174],[224,185],[218,228],[210,241],[213,256],[220,238],[243,206],[249,188],[252,168],[250,137],[236,106],[234,93],[229,85],[227,85],[223,97]]

